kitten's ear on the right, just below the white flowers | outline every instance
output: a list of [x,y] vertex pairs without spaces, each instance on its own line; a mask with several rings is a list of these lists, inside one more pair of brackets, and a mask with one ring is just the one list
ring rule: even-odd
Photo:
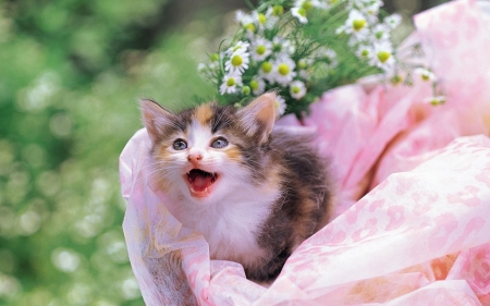
[[258,135],[259,143],[267,140],[275,122],[275,93],[267,93],[238,111],[247,135]]

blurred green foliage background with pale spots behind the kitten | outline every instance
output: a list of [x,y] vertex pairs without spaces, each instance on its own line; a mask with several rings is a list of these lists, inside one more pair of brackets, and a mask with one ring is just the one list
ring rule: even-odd
[[[385,1],[411,16],[442,1]],[[119,155],[137,99],[211,96],[197,63],[242,0],[0,1],[0,305],[143,305]]]

